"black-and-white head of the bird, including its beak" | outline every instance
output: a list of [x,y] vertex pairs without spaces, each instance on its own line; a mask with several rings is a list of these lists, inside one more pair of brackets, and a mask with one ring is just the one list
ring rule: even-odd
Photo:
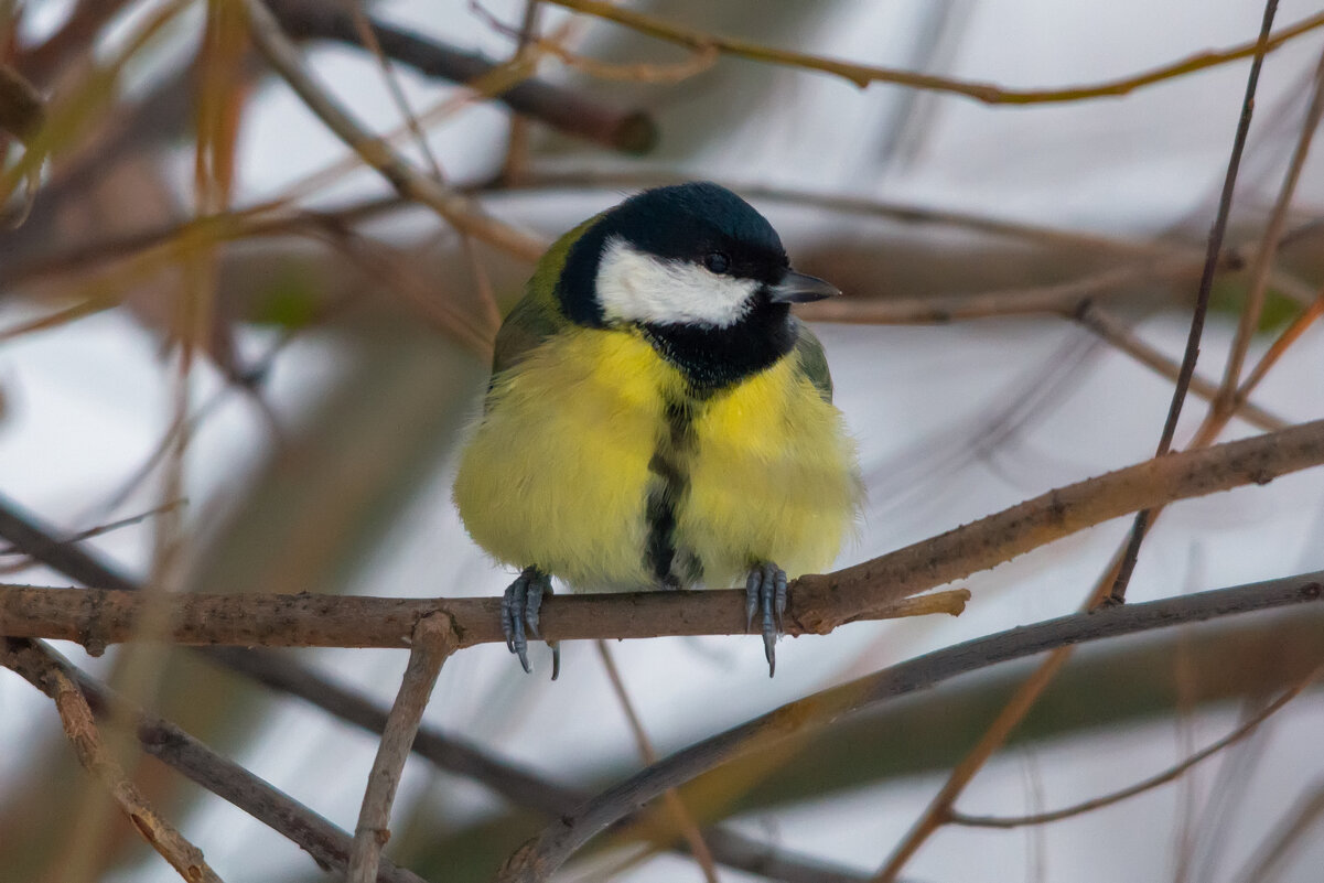
[[838,294],[790,269],[777,232],[712,183],[659,187],[581,228],[556,297],[572,322],[639,328],[699,385],[760,371],[794,346],[792,303]]

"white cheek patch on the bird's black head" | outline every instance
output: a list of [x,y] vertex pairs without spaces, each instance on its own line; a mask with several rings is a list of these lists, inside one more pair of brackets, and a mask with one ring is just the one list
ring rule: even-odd
[[759,283],[667,261],[608,240],[597,265],[597,297],[608,322],[728,327],[753,306]]

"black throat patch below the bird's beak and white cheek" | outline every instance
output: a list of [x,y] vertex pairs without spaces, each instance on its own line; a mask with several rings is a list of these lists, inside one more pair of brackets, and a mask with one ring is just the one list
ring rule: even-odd
[[726,328],[653,323],[641,328],[658,355],[700,396],[771,368],[796,346],[789,306],[763,297],[749,315]]

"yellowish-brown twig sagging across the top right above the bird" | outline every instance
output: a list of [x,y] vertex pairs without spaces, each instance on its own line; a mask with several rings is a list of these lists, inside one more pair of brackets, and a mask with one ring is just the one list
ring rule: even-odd
[[869,86],[870,83],[884,82],[895,83],[898,86],[910,86],[912,89],[952,93],[973,98],[988,105],[1042,105],[1050,102],[1082,101],[1086,98],[1120,97],[1137,89],[1194,73],[1197,70],[1225,65],[1227,62],[1249,58],[1256,54],[1263,56],[1263,53],[1272,52],[1284,42],[1294,40],[1303,33],[1324,26],[1324,13],[1321,13],[1311,16],[1309,19],[1303,19],[1301,21],[1284,28],[1275,34],[1266,33],[1263,38],[1254,42],[1230,46],[1218,52],[1198,53],[1181,61],[1164,65],[1153,70],[1147,70],[1144,73],[1121,77],[1119,79],[1110,79],[1106,82],[1082,86],[1067,86],[1062,89],[1002,89],[1000,86],[994,86],[993,83],[933,77],[908,70],[896,70],[895,68],[857,65],[847,61],[839,61],[837,58],[824,58],[821,56],[812,56],[802,52],[764,46],[749,40],[710,34],[702,30],[694,30],[691,28],[673,24],[663,19],[637,12],[630,8],[617,7],[610,3],[605,3],[604,0],[548,0],[548,3],[555,3],[556,5],[567,9],[597,16],[598,19],[606,19],[650,37],[688,46],[691,49],[715,46],[718,50],[728,56],[737,56],[751,61],[761,61],[786,68],[802,68],[805,70],[833,74],[855,83],[861,89]]

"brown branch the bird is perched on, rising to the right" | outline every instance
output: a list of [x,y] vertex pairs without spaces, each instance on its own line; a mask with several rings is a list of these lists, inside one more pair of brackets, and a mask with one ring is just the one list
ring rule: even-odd
[[[1320,463],[1324,420],[1168,454],[1061,487],[863,564],[800,577],[790,592],[786,633],[826,634],[857,620],[929,613],[931,604],[951,612],[947,605],[960,597],[904,598],[1128,512],[1264,485]],[[167,602],[168,631],[155,637],[184,645],[404,647],[418,618],[433,610],[451,618],[457,647],[504,641],[499,598],[177,594]],[[135,630],[140,606],[132,592],[0,586],[0,634],[101,647],[143,637]],[[551,641],[744,630],[740,590],[559,596],[543,614],[543,633]]]

